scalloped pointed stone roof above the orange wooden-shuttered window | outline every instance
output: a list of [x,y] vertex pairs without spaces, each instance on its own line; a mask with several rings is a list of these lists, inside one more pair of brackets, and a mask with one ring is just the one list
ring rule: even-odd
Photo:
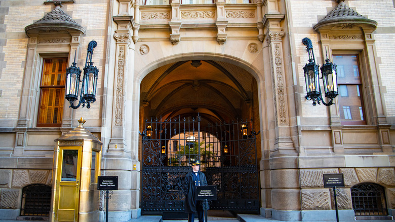
[[47,13],[42,19],[25,27],[27,35],[30,33],[38,33],[39,31],[47,30],[67,30],[68,32],[85,33],[85,28],[74,21],[71,16],[65,13],[60,5],[57,5],[54,10]]

